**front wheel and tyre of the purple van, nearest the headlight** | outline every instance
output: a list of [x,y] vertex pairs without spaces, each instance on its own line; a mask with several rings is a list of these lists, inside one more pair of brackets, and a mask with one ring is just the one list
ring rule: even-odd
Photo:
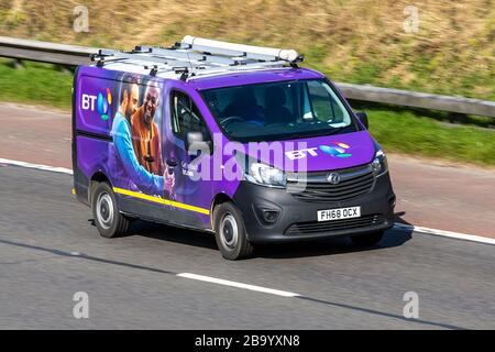
[[253,245],[248,241],[241,212],[230,202],[222,202],[213,211],[215,239],[226,260],[237,261],[251,256]]

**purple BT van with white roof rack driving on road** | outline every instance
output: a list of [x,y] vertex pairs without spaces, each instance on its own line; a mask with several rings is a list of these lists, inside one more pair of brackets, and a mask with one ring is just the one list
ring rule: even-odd
[[297,52],[187,35],[91,58],[74,78],[74,187],[102,237],[140,218],[215,233],[238,260],[266,242],[374,245],[393,226],[366,114]]

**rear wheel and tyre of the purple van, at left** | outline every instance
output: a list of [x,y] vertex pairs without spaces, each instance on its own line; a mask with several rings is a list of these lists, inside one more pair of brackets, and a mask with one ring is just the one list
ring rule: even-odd
[[95,187],[91,197],[91,209],[95,224],[103,238],[116,238],[129,229],[129,219],[119,212],[116,195],[107,183]]

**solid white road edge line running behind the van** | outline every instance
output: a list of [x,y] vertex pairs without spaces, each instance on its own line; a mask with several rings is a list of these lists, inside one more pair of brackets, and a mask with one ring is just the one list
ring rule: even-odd
[[[37,168],[37,169],[47,170],[47,172],[73,175],[73,170],[69,168],[65,168],[65,167],[54,167],[54,166],[48,166],[48,165],[32,164],[32,163],[12,161],[12,160],[1,158],[1,157],[0,157],[0,164],[10,164],[10,165],[16,165],[16,166],[22,166],[22,167]],[[398,222],[396,222],[394,224],[394,228],[397,230],[407,230],[407,231],[413,230],[413,231],[417,231],[420,233],[441,235],[441,237],[457,239],[457,240],[495,244],[495,239],[484,238],[482,235],[475,235],[475,234],[443,231],[443,230],[437,230],[437,229],[430,229],[430,228],[424,228],[424,227],[409,226],[409,224],[404,224],[404,223],[398,223]]]

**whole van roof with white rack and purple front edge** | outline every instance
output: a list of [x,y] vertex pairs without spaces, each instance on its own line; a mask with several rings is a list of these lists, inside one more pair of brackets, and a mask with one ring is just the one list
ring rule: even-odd
[[212,41],[186,35],[174,46],[136,46],[131,52],[100,50],[96,66],[109,70],[180,79],[197,89],[322,77],[298,68],[304,56],[295,50]]

